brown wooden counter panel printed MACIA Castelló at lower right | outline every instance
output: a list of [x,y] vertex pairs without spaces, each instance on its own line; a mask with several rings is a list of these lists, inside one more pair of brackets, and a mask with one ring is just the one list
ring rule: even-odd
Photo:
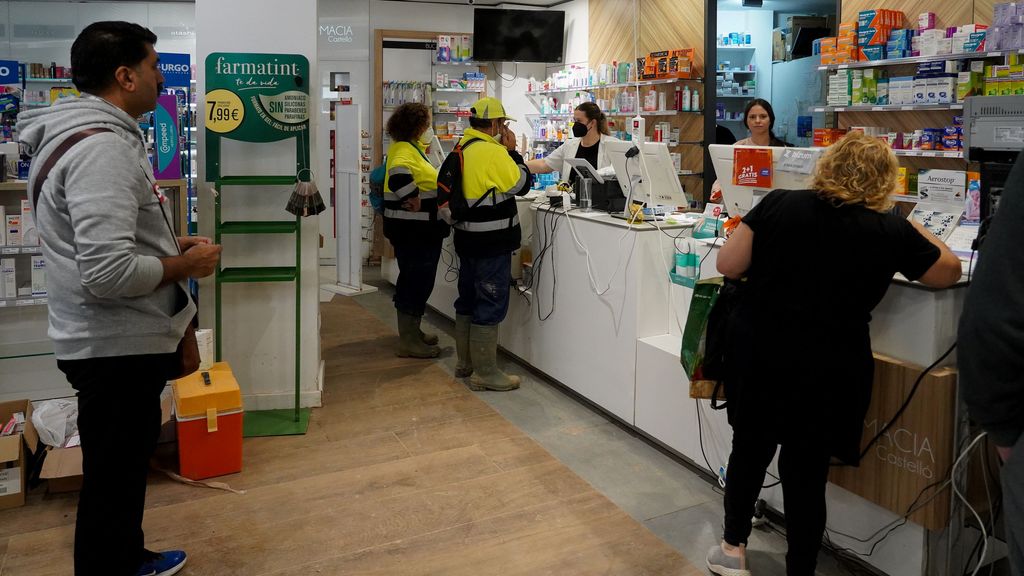
[[[900,407],[921,370],[876,355],[864,443]],[[828,476],[829,482],[894,513],[906,513],[912,505],[933,495],[933,489],[923,493],[928,486],[949,476],[955,413],[956,371],[952,368],[932,371],[922,380],[906,412],[871,446],[860,466],[835,467]],[[940,494],[910,520],[929,530],[942,530],[949,520],[949,502],[948,493]]]

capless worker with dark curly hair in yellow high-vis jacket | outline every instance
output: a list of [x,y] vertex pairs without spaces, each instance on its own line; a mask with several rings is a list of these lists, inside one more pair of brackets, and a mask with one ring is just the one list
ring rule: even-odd
[[394,247],[398,282],[398,348],[403,358],[436,358],[437,335],[420,329],[434,289],[441,241],[451,232],[437,217],[437,169],[427,160],[433,140],[430,109],[418,102],[399,106],[387,121],[391,146],[384,177],[384,236]]

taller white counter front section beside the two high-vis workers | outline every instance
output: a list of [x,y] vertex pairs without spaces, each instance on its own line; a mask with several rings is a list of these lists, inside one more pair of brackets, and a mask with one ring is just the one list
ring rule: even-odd
[[[688,230],[629,225],[608,214],[572,211],[566,216],[527,201],[519,202],[519,214],[532,249],[535,278],[529,289],[511,295],[501,346],[634,424],[637,342],[669,333],[670,325],[683,318],[672,311],[689,304],[673,300],[681,294],[669,289],[668,277],[674,253],[670,235],[686,236]],[[445,242],[429,303],[454,318],[457,275],[445,265],[454,260],[452,239]],[[385,278],[394,282],[394,261],[384,266]]]

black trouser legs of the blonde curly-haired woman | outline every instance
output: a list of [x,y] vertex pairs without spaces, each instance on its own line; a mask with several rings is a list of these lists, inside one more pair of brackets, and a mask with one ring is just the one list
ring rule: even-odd
[[[806,430],[806,437],[782,442],[778,468],[785,502],[787,576],[813,576],[825,530],[825,483],[828,449]],[[754,506],[764,485],[778,439],[759,430],[736,428],[725,482],[725,541],[745,544]]]

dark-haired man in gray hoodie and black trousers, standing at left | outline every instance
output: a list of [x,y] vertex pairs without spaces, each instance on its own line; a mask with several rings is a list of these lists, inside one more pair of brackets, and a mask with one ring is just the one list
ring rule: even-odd
[[71,64],[77,98],[18,118],[33,157],[29,190],[50,154],[84,129],[45,175],[36,208],[46,258],[49,335],[78,392],[84,484],[75,531],[77,576],[169,576],[180,550],[144,548],[148,461],[160,394],[196,304],[186,281],[213,274],[220,247],[176,238],[135,118],[152,111],[164,78],[157,37],[123,22],[88,26]]

